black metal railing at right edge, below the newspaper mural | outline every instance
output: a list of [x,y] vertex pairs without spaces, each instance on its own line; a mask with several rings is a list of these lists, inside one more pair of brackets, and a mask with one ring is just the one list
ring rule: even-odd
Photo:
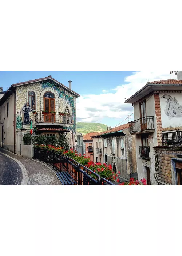
[[162,145],[182,143],[182,129],[162,132]]

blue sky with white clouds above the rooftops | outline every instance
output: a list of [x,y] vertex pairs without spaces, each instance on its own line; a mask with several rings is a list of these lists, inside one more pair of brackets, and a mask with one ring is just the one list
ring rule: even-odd
[[[124,101],[145,86],[146,79],[151,82],[170,78],[169,71],[1,71],[0,87],[7,90],[13,83],[49,75],[66,86],[72,80],[72,90],[81,95],[76,99],[77,121],[111,127],[133,113],[132,105]],[[177,75],[171,74],[171,78],[177,79]]]

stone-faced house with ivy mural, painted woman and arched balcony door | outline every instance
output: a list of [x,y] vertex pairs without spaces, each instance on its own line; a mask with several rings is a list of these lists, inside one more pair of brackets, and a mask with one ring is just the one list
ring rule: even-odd
[[1,146],[21,154],[20,137],[30,131],[30,123],[26,119],[28,114],[38,132],[47,135],[66,132],[70,145],[75,145],[75,101],[80,95],[71,90],[71,81],[68,82],[69,87],[48,76],[12,84],[0,99]]

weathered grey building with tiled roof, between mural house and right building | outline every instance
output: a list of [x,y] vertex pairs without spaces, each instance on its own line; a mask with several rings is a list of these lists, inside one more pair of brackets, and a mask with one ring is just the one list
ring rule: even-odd
[[130,135],[128,124],[98,133],[93,138],[94,161],[107,163],[120,181],[137,178],[135,136]]

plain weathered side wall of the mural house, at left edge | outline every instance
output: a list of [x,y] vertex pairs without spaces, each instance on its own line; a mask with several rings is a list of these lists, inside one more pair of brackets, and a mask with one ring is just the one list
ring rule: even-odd
[[[7,117],[7,103],[9,102],[9,114]],[[4,114],[5,106],[5,114]],[[0,145],[2,143],[2,127],[5,132],[3,134],[3,144],[6,150],[14,152],[14,94],[9,100],[0,107]]]

